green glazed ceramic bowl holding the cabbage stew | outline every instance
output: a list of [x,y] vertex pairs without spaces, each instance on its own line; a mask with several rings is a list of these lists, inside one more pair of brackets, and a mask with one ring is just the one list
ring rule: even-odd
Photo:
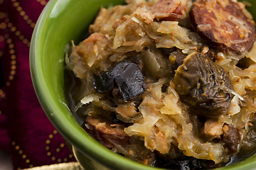
[[[31,41],[31,77],[38,99],[51,123],[73,146],[75,157],[85,169],[156,170],[114,154],[93,140],[75,120],[65,100],[65,45],[71,40],[76,43],[81,40],[100,6],[123,3],[123,0],[51,0],[38,19]],[[256,14],[253,10],[256,1],[251,3],[254,6],[250,10]],[[255,167],[256,154],[222,169]]]

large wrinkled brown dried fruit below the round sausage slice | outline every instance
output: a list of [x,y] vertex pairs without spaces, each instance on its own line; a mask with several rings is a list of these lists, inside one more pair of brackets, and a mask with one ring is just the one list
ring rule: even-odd
[[233,98],[228,73],[201,53],[185,58],[176,70],[174,84],[181,101],[208,118],[227,113]]

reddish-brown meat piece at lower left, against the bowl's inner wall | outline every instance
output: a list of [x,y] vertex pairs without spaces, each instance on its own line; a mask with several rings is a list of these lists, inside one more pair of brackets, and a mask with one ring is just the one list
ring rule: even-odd
[[129,136],[124,132],[124,127],[122,127],[122,125],[110,125],[98,118],[89,116],[86,119],[86,128],[90,135],[110,149],[115,147],[114,144],[129,144]]

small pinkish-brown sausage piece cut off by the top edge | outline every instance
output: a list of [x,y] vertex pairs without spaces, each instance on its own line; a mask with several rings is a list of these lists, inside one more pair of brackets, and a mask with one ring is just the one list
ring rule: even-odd
[[185,18],[188,0],[159,0],[152,7],[157,20],[178,21]]

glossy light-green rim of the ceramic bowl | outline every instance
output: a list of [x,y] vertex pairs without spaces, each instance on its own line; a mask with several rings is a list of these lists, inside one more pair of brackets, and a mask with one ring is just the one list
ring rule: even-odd
[[[68,116],[63,116],[63,114],[60,111],[60,108],[58,108],[57,104],[53,102],[52,100],[49,100],[50,91],[48,90],[48,87],[45,82],[43,69],[41,67],[36,67],[41,65],[40,60],[41,57],[41,38],[42,38],[42,30],[43,26],[46,26],[47,24],[47,18],[50,16],[51,11],[53,10],[53,6],[57,4],[59,0],[51,0],[48,2],[46,7],[43,9],[41,15],[38,18],[38,21],[36,23],[36,27],[33,30],[33,35],[31,38],[31,48],[30,48],[30,69],[31,69],[31,79],[33,82],[33,87],[36,91],[36,95],[38,97],[38,101],[41,103],[41,106],[43,108],[43,111],[48,116],[50,122],[55,126],[55,128],[60,132],[60,134],[70,142],[71,145],[73,145],[76,149],[78,149],[83,154],[87,155],[87,157],[90,157],[91,159],[100,162],[103,166],[107,166],[110,169],[122,169],[122,167],[126,167],[127,169],[134,169],[134,170],[157,170],[159,168],[151,167],[151,166],[145,166],[143,164],[139,164],[137,162],[133,162],[132,160],[126,159],[122,156],[119,156],[118,154],[115,154],[114,152],[110,151],[109,149],[103,147],[100,145],[96,140],[92,139],[92,137],[89,137],[88,135],[85,135],[85,131],[82,130],[80,125],[73,125],[73,123],[70,122]],[[72,1],[72,0],[67,0]],[[87,0],[90,1],[90,0]],[[64,47],[63,47],[64,48]],[[63,56],[64,57],[64,56]],[[42,93],[43,91],[43,93]],[[56,113],[59,113],[57,115],[50,113],[51,108],[57,108],[58,110],[55,111]],[[78,126],[80,128],[78,128]],[[63,129],[63,127],[65,127]],[[79,135],[79,137],[78,137]],[[83,148],[83,149],[80,149]],[[97,151],[97,152],[95,152]],[[100,160],[100,161],[99,161]],[[235,169],[245,169],[245,168],[252,168],[256,166],[255,162],[250,162],[247,164],[234,164]],[[220,169],[233,169],[233,165],[226,166]],[[160,170],[160,169],[159,169]]]

